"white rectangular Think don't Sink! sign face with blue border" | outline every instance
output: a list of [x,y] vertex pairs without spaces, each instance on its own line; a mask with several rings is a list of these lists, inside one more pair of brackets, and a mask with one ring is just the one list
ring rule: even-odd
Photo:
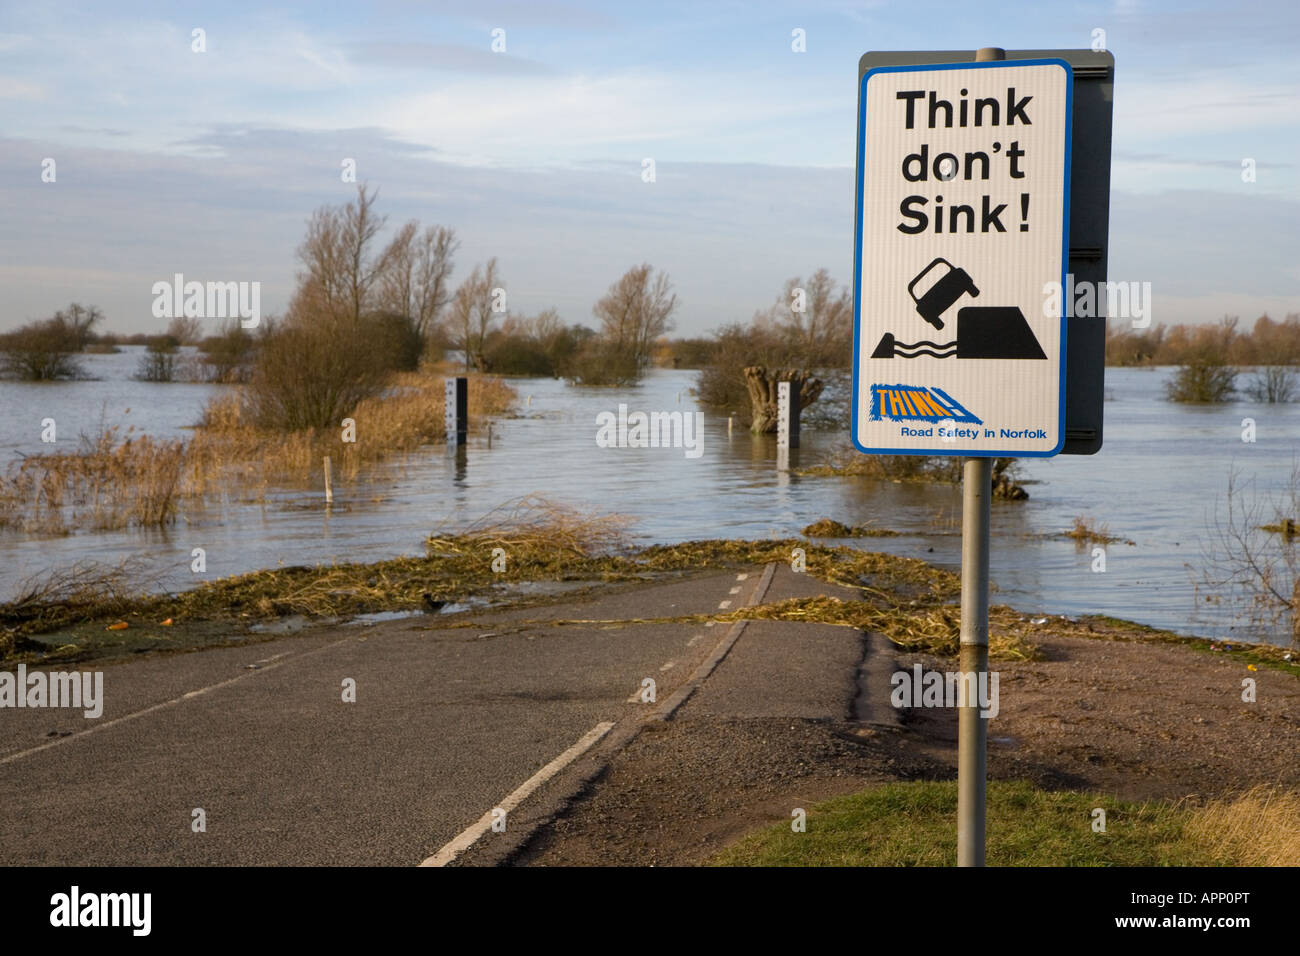
[[853,367],[861,451],[1061,450],[1072,88],[1062,59],[863,73]]

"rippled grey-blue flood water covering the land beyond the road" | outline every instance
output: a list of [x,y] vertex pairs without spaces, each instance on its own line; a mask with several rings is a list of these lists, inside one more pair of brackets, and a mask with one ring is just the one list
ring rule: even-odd
[[[0,457],[49,451],[42,420],[53,418],[58,449],[100,421],[153,436],[186,436],[221,386],[136,382],[139,349],[83,359],[96,381],[0,382]],[[1286,643],[1280,632],[1238,622],[1228,604],[1197,596],[1212,518],[1225,507],[1230,472],[1253,479],[1266,498],[1288,484],[1300,436],[1300,406],[1238,402],[1214,407],[1162,399],[1173,369],[1106,369],[1105,447],[1095,457],[1022,462],[1031,498],[993,502],[994,602],[1052,614],[1104,613],[1184,633]],[[281,564],[316,564],[420,554],[434,527],[455,529],[511,499],[541,494],[589,511],[636,519],[637,542],[706,537],[798,536],[820,518],[875,524],[901,537],[857,546],[926,558],[957,568],[961,489],[861,477],[805,477],[776,470],[772,437],[751,437],[705,414],[703,454],[682,449],[618,449],[595,444],[597,415],[694,412],[696,373],[656,369],[636,388],[578,389],[524,378],[517,418],[472,436],[459,453],[432,447],[373,470],[356,485],[335,485],[326,509],[321,488],[285,489],[261,503],[233,486],[187,505],[166,529],[36,537],[0,531],[0,600],[30,575],[77,562],[146,557],[160,585],[191,587],[190,554],[203,548],[208,578]],[[127,411],[129,410],[129,411]],[[1257,438],[1242,441],[1253,418]],[[805,428],[793,467],[811,464],[845,441]],[[1076,515],[1109,525],[1135,545],[1106,546],[1095,572],[1092,545],[1049,537]]]

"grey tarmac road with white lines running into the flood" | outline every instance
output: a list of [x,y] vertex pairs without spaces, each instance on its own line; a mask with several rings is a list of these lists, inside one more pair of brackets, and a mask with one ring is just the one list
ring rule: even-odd
[[571,786],[538,771],[590,770],[688,688],[710,713],[845,715],[863,654],[850,630],[651,620],[759,589],[840,592],[788,567],[708,572],[105,667],[99,719],[0,711],[0,862],[442,864],[495,839],[493,808],[532,779],[507,808],[517,842],[516,821],[542,822]]

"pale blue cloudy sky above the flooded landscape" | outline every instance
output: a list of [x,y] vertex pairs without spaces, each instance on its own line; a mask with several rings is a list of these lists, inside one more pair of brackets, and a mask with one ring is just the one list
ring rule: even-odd
[[351,159],[390,229],[456,230],[454,282],[497,256],[514,313],[594,325],[649,261],[676,333],[705,334],[786,278],[852,285],[862,53],[1098,30],[1110,278],[1150,282],[1156,323],[1300,312],[1294,0],[55,0],[0,4],[0,330],[74,300],[160,330],[152,286],[174,273],[257,281],[277,312],[308,216],[354,195]]

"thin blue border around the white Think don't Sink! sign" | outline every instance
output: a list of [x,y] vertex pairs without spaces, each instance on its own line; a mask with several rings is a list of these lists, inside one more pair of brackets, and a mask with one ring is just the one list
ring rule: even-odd
[[853,447],[868,455],[953,455],[959,458],[1052,458],[1061,454],[1065,447],[1065,369],[1067,328],[1066,316],[1069,308],[1065,300],[1061,302],[1061,392],[1057,397],[1057,445],[1050,451],[1023,451],[1023,450],[958,450],[949,445],[942,449],[867,449],[858,444],[858,407],[861,406],[862,385],[859,356],[862,336],[862,179],[864,176],[864,152],[867,135],[867,82],[878,73],[928,73],[931,70],[970,70],[970,69],[1002,69],[1006,66],[1041,66],[1044,64],[1057,64],[1065,69],[1065,209],[1061,213],[1061,295],[1065,295],[1065,277],[1070,268],[1070,157],[1072,151],[1074,134],[1074,69],[1060,57],[1044,57],[1043,60],[991,60],[982,62],[949,62],[949,64],[915,64],[911,66],[874,66],[862,74],[858,86],[858,163],[855,173],[855,208],[854,208],[854,237],[853,237],[853,416],[849,434]]

